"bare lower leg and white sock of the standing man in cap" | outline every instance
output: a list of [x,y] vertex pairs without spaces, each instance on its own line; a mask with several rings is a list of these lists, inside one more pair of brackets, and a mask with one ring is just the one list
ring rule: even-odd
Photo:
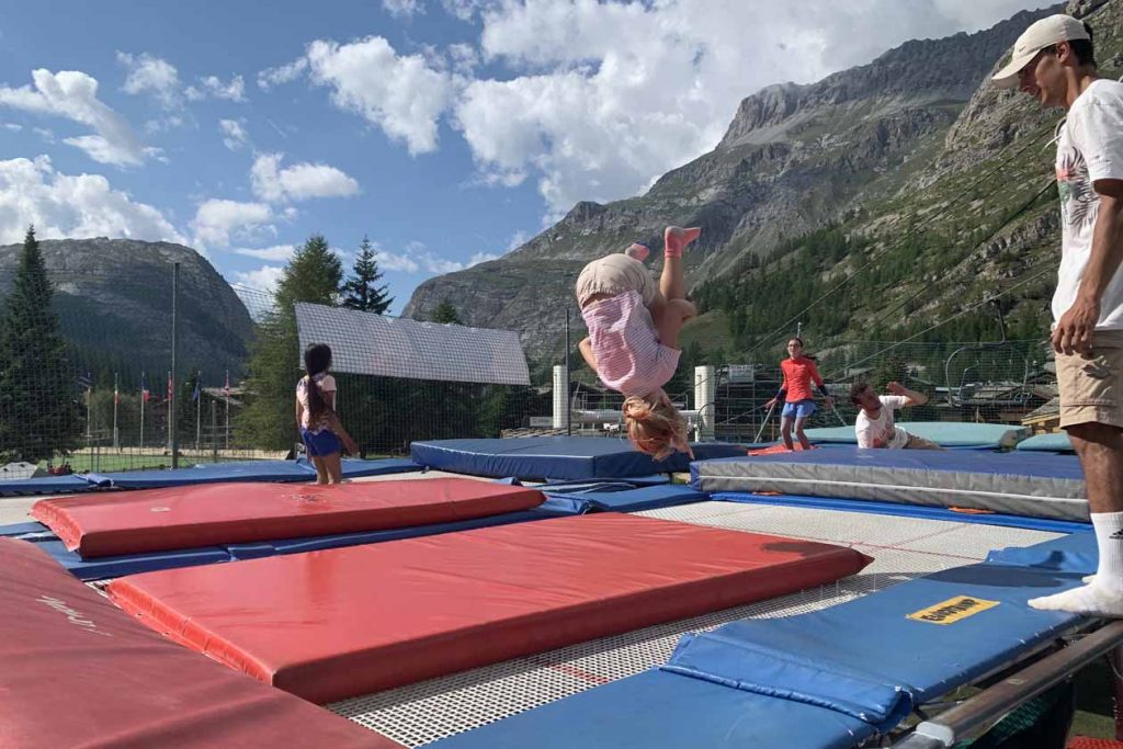
[[1123,430],[1083,423],[1068,428],[1080,459],[1096,530],[1099,565],[1087,585],[1033,599],[1030,605],[1089,616],[1123,618]]

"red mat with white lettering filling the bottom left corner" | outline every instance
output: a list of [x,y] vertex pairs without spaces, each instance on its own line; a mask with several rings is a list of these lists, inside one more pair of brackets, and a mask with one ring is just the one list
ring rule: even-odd
[[399,747],[168,642],[4,538],[0,664],[0,747]]

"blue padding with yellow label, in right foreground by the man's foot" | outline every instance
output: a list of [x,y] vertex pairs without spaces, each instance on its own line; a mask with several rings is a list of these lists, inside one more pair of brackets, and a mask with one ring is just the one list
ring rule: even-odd
[[431,746],[850,749],[1078,627],[1025,601],[1079,585],[1094,544],[1031,547],[1038,566],[1014,564],[1025,550],[997,552],[823,611],[688,634],[661,668]]

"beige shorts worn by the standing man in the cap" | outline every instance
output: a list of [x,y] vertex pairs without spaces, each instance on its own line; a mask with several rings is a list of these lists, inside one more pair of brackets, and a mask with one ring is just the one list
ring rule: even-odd
[[1092,355],[1057,355],[1060,426],[1102,423],[1123,429],[1123,330],[1092,337]]

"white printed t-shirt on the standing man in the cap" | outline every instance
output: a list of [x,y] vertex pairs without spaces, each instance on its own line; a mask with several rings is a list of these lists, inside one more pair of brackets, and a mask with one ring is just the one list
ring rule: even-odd
[[[1053,293],[1053,321],[1076,301],[1092,256],[1099,213],[1097,180],[1123,180],[1123,83],[1093,81],[1076,98],[1057,141],[1061,258]],[[1123,267],[1115,272],[1099,304],[1096,330],[1123,329]]]

